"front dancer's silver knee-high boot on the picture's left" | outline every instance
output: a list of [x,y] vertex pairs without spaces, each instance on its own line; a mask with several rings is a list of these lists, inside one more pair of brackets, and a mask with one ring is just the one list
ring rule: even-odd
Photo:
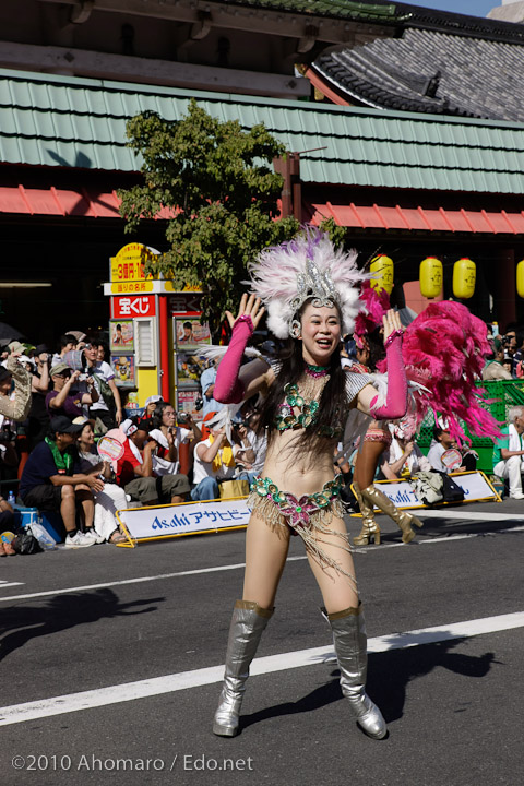
[[224,684],[213,723],[213,733],[221,737],[235,737],[238,731],[249,667],[273,611],[274,609],[263,609],[254,600],[237,600],[235,604],[227,642]]

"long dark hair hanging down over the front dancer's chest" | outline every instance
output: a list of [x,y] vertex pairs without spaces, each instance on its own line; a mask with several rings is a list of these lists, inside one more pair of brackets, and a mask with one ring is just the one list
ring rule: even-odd
[[[267,397],[262,404],[257,433],[267,429],[271,441],[275,431],[275,419],[278,407],[285,398],[284,388],[296,383],[303,373],[302,343],[298,338],[288,338],[277,358],[282,366],[271,385]],[[330,358],[330,379],[320,397],[318,418],[314,426],[303,429],[300,436],[300,448],[314,449],[325,438],[319,431],[333,427],[337,421],[345,420],[349,402],[346,396],[346,372],[341,366],[341,349],[336,347]]]

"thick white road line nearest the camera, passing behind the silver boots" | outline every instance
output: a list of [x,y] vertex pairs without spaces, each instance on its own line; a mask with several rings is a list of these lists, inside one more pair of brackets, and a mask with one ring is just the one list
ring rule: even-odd
[[[379,653],[390,650],[402,650],[404,647],[420,646],[450,639],[462,639],[466,636],[496,633],[498,631],[512,630],[524,627],[524,612],[501,615],[499,617],[486,617],[467,622],[452,622],[436,628],[422,628],[406,633],[391,633],[377,636],[368,641],[368,652]],[[287,669],[300,668],[301,666],[313,666],[319,663],[327,663],[335,659],[333,647],[322,646],[297,652],[282,653],[257,658],[251,666],[251,675],[271,674],[285,671]],[[221,682],[224,676],[224,666],[211,666],[209,668],[182,671],[180,674],[166,675],[138,682],[108,686],[98,690],[82,691],[68,695],[53,696],[24,704],[13,704],[0,708],[0,726],[9,726],[16,723],[35,720],[36,718],[62,715],[82,710],[93,710],[108,704],[146,699],[148,696],[172,693],[188,688],[199,688],[214,682]]]

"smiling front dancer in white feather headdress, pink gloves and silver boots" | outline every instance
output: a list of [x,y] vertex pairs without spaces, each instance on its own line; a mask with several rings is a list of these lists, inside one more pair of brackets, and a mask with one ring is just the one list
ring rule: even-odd
[[[289,539],[300,536],[318,582],[349,711],[376,739],[386,736],[380,710],[366,693],[367,646],[352,549],[343,522],[341,484],[333,449],[352,407],[376,418],[406,410],[398,314],[385,314],[384,343],[391,383],[380,400],[366,374],[345,373],[340,347],[353,332],[361,281],[355,254],[336,251],[329,237],[306,233],[263,251],[251,269],[253,295],[243,296],[236,318],[228,313],[231,341],[222,360],[214,395],[238,403],[254,393],[265,402],[261,429],[269,434],[264,468],[254,481],[247,528],[242,598],[234,608],[224,684],[213,730],[234,736],[249,667],[273,615]],[[270,330],[286,340],[279,359],[240,367],[246,345],[267,307]]]

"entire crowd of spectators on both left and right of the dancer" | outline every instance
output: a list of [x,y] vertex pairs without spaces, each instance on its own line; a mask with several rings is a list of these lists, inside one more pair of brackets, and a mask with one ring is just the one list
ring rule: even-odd
[[[524,377],[524,329],[510,325],[502,336],[492,335],[493,354],[484,371],[486,380]],[[275,350],[266,342],[265,355]],[[271,344],[271,346],[269,346]],[[346,344],[343,365],[358,362],[357,349]],[[162,396],[151,396],[139,416],[127,418],[106,361],[107,346],[79,331],[58,342],[52,353],[44,344],[14,341],[0,359],[0,527],[13,528],[12,505],[4,489],[20,479],[17,502],[59,513],[66,546],[120,543],[115,512],[126,505],[155,505],[219,497],[221,485],[231,478],[247,481],[263,468],[266,439],[258,434],[259,414],[249,402],[236,417],[233,437],[216,415],[224,407],[214,398],[218,360],[210,361],[200,380],[202,420],[177,413]],[[129,410],[128,410],[129,414]],[[378,477],[402,478],[417,472],[450,472],[442,455],[456,448],[445,424],[437,424],[428,455],[416,443],[406,424],[391,424],[391,445],[384,452]],[[121,440],[118,462],[102,461],[96,444],[110,431]],[[510,495],[524,499],[524,409],[510,413],[503,438],[495,448],[493,472],[510,485]],[[231,431],[229,431],[231,434]],[[355,445],[352,446],[354,449]],[[357,445],[358,448],[358,445]],[[181,455],[183,453],[183,466]],[[474,455],[474,453],[473,453]],[[340,444],[335,463],[347,480],[350,451]],[[475,466],[472,452],[461,466]],[[9,526],[11,524],[11,527]],[[0,543],[0,556],[10,553]]]

